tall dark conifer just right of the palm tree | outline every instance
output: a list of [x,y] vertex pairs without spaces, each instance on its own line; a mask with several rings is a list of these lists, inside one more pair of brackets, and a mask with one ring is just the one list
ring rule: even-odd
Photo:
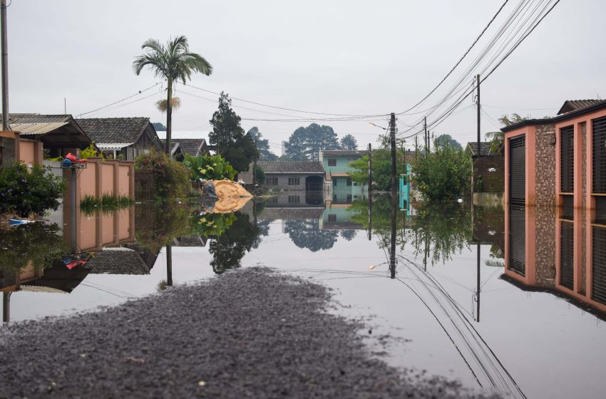
[[248,170],[250,162],[259,158],[259,151],[250,133],[244,134],[240,126],[240,116],[232,110],[229,95],[221,93],[219,109],[212,114],[209,121],[212,132],[208,135],[211,145],[217,147],[217,154],[230,162],[238,172]]

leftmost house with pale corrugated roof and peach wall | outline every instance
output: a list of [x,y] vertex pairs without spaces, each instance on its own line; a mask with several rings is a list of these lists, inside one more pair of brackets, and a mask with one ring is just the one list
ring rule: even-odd
[[39,115],[14,113],[9,115],[13,132],[0,135],[0,165],[21,160],[26,164],[41,164],[48,157],[78,152],[91,144],[91,139],[71,115]]

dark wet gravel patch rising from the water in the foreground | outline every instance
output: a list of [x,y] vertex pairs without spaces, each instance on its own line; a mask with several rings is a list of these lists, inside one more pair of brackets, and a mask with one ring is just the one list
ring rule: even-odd
[[493,398],[388,366],[329,290],[265,268],[0,332],[0,398]]

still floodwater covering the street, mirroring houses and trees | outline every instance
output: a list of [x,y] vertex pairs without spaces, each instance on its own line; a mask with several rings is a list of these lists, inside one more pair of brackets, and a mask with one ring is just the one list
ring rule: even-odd
[[319,198],[284,193],[235,214],[60,210],[3,230],[5,327],[261,264],[333,287],[342,314],[386,336],[396,366],[512,398],[603,397],[604,215]]

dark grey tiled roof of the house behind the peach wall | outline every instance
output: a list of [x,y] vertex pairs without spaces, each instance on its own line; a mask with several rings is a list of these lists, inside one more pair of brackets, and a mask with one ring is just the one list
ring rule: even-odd
[[150,118],[76,119],[93,142],[136,142],[150,123]]

